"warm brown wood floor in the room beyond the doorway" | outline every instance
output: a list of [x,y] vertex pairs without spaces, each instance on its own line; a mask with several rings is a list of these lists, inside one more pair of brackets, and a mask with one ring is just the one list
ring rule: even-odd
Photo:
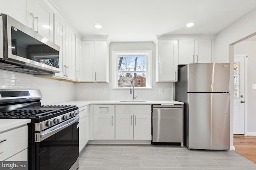
[[234,135],[235,151],[256,163],[256,136]]

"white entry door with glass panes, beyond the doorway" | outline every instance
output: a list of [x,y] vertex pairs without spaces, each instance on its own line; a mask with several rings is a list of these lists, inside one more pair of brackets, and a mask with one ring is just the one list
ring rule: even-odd
[[234,134],[244,134],[244,57],[234,57]]

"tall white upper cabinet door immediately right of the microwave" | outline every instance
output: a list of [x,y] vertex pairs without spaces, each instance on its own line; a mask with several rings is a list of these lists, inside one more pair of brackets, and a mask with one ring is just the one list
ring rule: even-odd
[[66,62],[66,46],[65,46],[65,33],[66,25],[57,15],[54,15],[54,43],[60,46],[60,72],[55,73],[55,76],[64,77],[64,63]]

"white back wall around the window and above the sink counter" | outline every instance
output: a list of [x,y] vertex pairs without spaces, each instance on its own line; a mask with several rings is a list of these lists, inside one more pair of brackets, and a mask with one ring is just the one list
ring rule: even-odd
[[[77,83],[76,100],[132,100],[130,90],[112,89],[112,51],[152,50],[152,89],[136,89],[136,100],[173,100],[173,83],[155,83],[155,44],[153,42],[112,42],[109,46],[109,83]],[[102,93],[102,89],[106,93]],[[159,94],[159,88],[164,94]]]

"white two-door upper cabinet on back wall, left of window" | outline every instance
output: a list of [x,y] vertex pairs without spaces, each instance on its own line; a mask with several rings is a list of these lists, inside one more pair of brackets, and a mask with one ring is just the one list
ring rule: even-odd
[[82,41],[81,81],[108,82],[108,44],[103,40]]

